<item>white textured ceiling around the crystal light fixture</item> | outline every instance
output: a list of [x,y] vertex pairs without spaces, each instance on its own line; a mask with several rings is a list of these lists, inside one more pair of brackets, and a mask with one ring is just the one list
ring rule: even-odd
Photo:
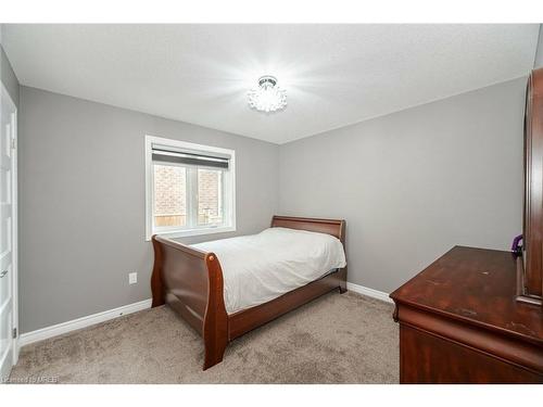
[[[25,86],[283,143],[527,75],[539,25],[4,25]],[[247,105],[264,74],[283,112]]]

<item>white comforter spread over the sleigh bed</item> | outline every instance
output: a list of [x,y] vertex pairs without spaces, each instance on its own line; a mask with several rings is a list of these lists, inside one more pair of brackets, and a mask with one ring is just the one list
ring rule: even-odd
[[217,255],[228,314],[272,301],[345,266],[339,239],[305,230],[270,228],[192,246]]

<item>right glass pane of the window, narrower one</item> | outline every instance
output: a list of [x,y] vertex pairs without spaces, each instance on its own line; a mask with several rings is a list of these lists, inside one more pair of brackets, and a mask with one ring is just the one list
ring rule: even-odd
[[198,169],[198,225],[223,224],[223,171]]

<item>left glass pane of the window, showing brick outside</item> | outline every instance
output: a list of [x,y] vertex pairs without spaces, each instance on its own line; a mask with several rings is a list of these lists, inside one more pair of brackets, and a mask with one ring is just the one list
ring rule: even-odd
[[154,165],[154,225],[187,225],[187,168]]

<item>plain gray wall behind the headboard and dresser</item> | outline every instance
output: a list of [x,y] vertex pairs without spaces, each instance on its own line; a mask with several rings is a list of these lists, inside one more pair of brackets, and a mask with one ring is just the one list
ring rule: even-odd
[[280,147],[280,213],[345,218],[349,281],[391,292],[521,231],[520,78]]

